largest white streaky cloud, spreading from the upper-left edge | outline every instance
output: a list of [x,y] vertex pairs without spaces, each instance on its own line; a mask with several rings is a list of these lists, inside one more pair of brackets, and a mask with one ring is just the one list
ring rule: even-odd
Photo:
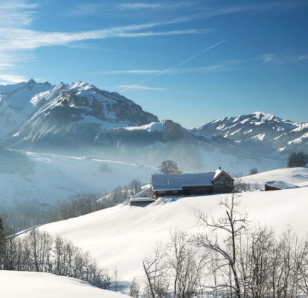
[[28,28],[35,18],[38,4],[24,0],[0,1],[0,68],[2,71],[28,63],[35,58],[33,50],[48,46],[77,46],[81,41],[104,38],[145,38],[150,36],[172,36],[180,34],[202,34],[209,29],[177,31],[144,31],[172,23],[187,21],[177,18],[170,21],[148,22],[129,26],[115,26],[95,31],[44,32]]

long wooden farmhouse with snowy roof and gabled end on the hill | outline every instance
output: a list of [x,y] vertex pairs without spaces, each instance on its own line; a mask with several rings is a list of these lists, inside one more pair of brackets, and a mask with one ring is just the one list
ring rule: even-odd
[[155,174],[150,176],[153,198],[230,192],[233,190],[233,181],[234,179],[221,168],[215,172],[201,174]]

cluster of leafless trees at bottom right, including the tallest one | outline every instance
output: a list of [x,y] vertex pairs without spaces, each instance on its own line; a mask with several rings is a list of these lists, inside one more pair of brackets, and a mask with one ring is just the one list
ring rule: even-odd
[[308,241],[290,227],[279,237],[252,228],[234,194],[219,204],[226,209],[219,218],[201,213],[202,230],[175,230],[145,258],[148,297],[308,297]]

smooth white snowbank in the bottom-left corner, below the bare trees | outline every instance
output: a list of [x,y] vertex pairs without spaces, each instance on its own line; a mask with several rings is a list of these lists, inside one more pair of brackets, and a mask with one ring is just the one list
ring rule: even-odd
[[44,272],[0,271],[1,296],[7,298],[125,298],[72,277]]

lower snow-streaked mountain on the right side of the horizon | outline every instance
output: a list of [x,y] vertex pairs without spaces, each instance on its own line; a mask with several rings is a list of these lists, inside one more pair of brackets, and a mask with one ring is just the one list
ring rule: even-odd
[[226,137],[260,156],[286,157],[293,151],[308,152],[308,122],[296,123],[264,112],[216,119],[190,131]]

